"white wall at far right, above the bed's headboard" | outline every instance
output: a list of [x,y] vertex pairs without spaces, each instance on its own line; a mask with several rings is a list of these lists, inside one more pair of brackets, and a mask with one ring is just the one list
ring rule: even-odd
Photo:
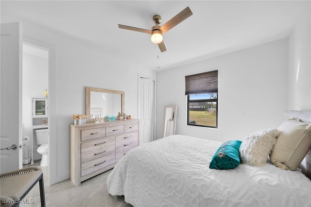
[[[311,4],[311,2],[309,2]],[[289,37],[289,109],[311,110],[311,6]]]

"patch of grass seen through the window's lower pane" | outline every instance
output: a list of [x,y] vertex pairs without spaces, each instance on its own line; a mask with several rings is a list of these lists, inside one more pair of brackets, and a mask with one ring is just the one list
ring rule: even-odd
[[196,125],[215,126],[216,127],[216,111],[189,111],[189,120],[195,121]]

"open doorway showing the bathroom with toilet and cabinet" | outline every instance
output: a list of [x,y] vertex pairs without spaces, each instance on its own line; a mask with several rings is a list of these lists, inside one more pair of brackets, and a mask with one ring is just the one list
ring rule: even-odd
[[[49,50],[27,42],[22,46],[23,167],[47,167],[48,162],[42,164],[40,161],[44,156],[40,149],[44,146],[48,153]],[[46,143],[38,144],[36,140],[36,132],[40,130],[46,132]]]

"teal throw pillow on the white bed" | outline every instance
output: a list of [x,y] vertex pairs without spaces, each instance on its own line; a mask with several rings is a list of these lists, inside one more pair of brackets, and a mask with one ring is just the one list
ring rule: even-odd
[[224,142],[209,163],[209,168],[218,170],[233,169],[240,164],[240,145],[242,141],[231,140]]

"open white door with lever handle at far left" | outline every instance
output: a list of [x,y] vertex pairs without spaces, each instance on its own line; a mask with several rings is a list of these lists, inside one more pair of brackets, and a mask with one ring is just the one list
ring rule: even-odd
[[[19,22],[1,23],[0,46],[0,173],[5,173],[22,168],[22,34]],[[10,149],[12,145],[17,149]]]

